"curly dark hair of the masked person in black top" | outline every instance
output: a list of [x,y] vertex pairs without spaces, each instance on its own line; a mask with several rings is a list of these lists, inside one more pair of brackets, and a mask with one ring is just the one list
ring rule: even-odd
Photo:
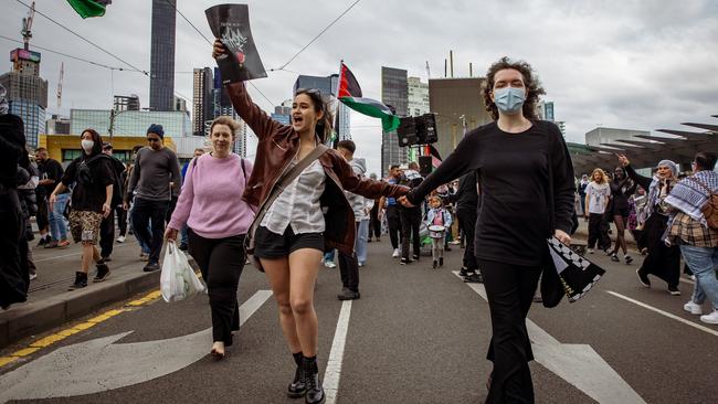
[[546,91],[541,87],[541,83],[534,74],[534,68],[531,68],[530,64],[524,61],[514,62],[508,59],[508,56],[499,59],[498,62],[488,67],[488,72],[486,72],[486,81],[484,82],[483,88],[486,110],[492,115],[494,120],[498,119],[498,108],[492,100],[492,92],[494,91],[494,77],[496,76],[496,73],[506,68],[518,71],[521,76],[524,76],[524,85],[528,89],[526,102],[524,102],[524,116],[531,120],[538,119],[536,107],[539,102],[539,96],[546,94]]

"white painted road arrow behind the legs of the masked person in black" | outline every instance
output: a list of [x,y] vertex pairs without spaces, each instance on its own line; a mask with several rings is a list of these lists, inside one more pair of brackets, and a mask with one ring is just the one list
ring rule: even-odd
[[[454,270],[458,276],[458,270]],[[466,284],[484,300],[481,284]],[[534,321],[526,319],[536,361],[599,403],[645,404],[610,364],[587,344],[561,343]]]

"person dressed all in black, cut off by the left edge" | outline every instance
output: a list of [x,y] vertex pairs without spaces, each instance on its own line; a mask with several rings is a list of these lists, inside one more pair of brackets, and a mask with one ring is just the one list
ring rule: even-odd
[[[25,135],[22,119],[8,114],[6,89],[0,85],[0,308],[28,299],[30,275],[28,272],[28,242],[24,240],[25,223],[22,216],[18,184],[30,176],[19,170],[24,150]],[[19,172],[24,178],[19,179]]]

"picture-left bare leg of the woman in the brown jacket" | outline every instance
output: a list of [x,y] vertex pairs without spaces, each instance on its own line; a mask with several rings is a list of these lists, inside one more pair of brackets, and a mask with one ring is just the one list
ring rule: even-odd
[[297,327],[294,322],[294,313],[289,305],[289,262],[286,257],[278,259],[261,259],[264,273],[270,279],[274,299],[279,308],[279,323],[284,338],[292,350],[292,353],[302,351]]

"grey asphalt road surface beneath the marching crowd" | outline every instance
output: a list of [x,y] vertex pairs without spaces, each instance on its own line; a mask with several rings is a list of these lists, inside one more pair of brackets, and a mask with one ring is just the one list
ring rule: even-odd
[[[339,357],[342,361],[338,368],[337,402],[483,402],[484,384],[490,371],[490,363],[484,359],[490,337],[488,305],[452,273],[458,269],[463,251],[453,246],[453,251],[446,253],[446,266],[436,270],[431,269],[429,257],[400,266],[391,258],[388,241],[370,244],[369,253],[369,263],[361,269],[361,299],[351,302],[350,311],[345,308],[349,319],[344,355]],[[633,265],[612,263],[599,254],[589,258],[603,266],[606,275],[584,299],[576,304],[564,300],[555,309],[534,305],[529,313],[531,321],[558,341],[558,348],[551,351],[553,357],[545,361],[563,363],[561,361],[579,358],[576,352],[592,349],[614,376],[646,403],[716,403],[718,327],[703,325],[696,316],[683,311],[683,304],[691,290],[688,280],[680,285],[683,296],[672,297],[658,279],[652,279],[652,289],[637,283],[635,269],[640,256]],[[316,289],[320,372],[327,368],[332,344],[338,345],[335,333],[341,322],[338,320],[342,304],[336,299],[336,293],[340,286],[338,269],[320,272]],[[268,289],[264,275],[246,266],[240,281],[241,304],[258,290]],[[97,338],[131,331],[115,342],[129,344],[188,336],[208,327],[210,312],[205,296],[172,304],[160,299],[134,308],[0,368],[0,397],[3,391],[12,387],[8,384],[11,376],[31,365],[33,368],[24,368],[32,370],[24,378],[24,389],[40,390],[50,385],[53,394],[72,390],[76,382],[98,374],[113,379],[133,373],[142,379],[149,374],[147,354],[108,354],[94,360],[96,352],[88,351],[81,355],[86,363],[83,365],[85,372],[67,372],[62,375],[64,383],[56,386],[52,386],[53,378],[60,378],[61,372],[43,363],[53,358],[53,353],[70,361],[71,355],[62,350],[67,348],[63,347]],[[9,349],[27,347],[32,341],[28,339]],[[534,342],[542,343],[538,337]],[[157,345],[167,350],[163,358],[176,357],[173,347],[182,349],[176,340]],[[194,350],[207,352],[209,349],[210,341],[194,347]],[[0,357],[8,350],[0,352]],[[59,354],[61,352],[63,355]],[[157,360],[150,364],[161,368],[163,362]],[[604,392],[617,389],[612,384],[591,386],[592,375],[583,371],[574,372],[572,381],[567,381],[538,362],[531,363],[531,372],[539,403],[594,403],[591,389]],[[270,298],[246,319],[235,337],[235,344],[222,361],[201,354],[199,360],[177,371],[138,384],[86,395],[22,402],[297,403],[300,401],[285,395],[294,375],[293,366],[278,326],[276,306]]]

